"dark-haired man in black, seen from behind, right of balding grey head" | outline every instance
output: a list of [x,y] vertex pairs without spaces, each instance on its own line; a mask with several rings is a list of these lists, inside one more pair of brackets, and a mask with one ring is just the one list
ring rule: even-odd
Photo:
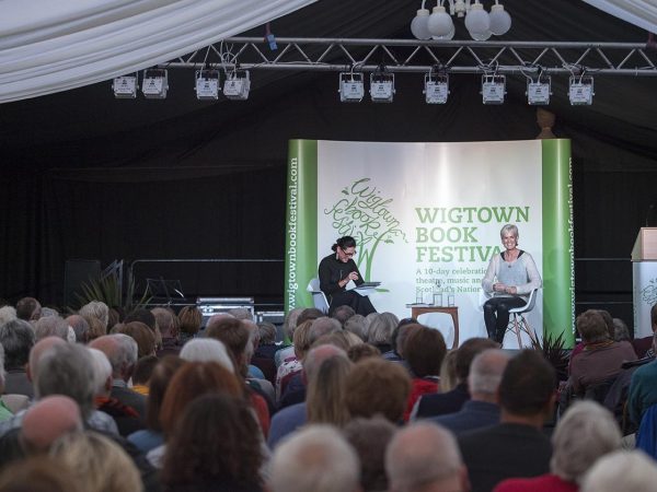
[[500,423],[459,436],[473,492],[550,471],[552,445],[541,429],[554,411],[555,383],[541,352],[523,350],[508,362],[498,390]]

